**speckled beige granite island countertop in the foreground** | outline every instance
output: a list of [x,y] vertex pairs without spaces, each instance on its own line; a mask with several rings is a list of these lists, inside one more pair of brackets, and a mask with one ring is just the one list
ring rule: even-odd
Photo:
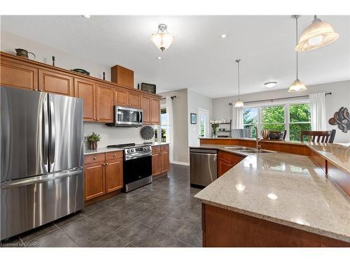
[[[211,148],[214,147],[221,150],[217,145]],[[251,154],[195,198],[350,242],[349,198],[309,157],[281,152]]]

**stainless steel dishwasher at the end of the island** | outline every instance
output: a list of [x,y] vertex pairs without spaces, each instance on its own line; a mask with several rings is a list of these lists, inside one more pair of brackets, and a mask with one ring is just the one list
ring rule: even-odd
[[190,184],[207,187],[218,177],[218,152],[216,150],[190,148]]

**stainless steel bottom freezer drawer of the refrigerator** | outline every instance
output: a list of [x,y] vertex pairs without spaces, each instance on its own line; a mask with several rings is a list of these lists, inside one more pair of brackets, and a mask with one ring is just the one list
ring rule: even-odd
[[1,183],[1,240],[84,207],[83,169]]

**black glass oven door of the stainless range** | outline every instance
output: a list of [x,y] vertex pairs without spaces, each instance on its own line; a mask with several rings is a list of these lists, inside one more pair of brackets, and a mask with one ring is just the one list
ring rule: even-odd
[[124,160],[123,170],[125,185],[150,177],[152,176],[152,156]]

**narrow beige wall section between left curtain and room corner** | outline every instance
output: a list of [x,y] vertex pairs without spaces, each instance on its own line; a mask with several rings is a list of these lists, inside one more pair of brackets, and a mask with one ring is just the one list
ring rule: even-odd
[[176,96],[173,100],[173,161],[174,163],[188,163],[188,96],[187,89],[160,94],[161,96]]

